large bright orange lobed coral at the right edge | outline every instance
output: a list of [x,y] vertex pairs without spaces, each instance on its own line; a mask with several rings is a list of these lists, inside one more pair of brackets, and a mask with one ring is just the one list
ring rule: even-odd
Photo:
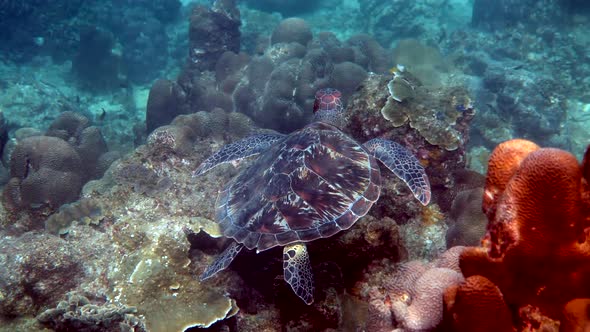
[[486,277],[515,310],[532,305],[557,319],[568,301],[590,297],[589,154],[580,166],[559,149],[500,144],[484,193],[487,233],[461,255],[464,276]]

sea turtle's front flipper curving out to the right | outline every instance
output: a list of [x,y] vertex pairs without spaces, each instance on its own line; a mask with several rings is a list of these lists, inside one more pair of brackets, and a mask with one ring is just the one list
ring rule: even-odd
[[430,181],[424,167],[418,159],[405,147],[398,143],[374,138],[367,141],[364,147],[383,163],[390,171],[400,178],[412,191],[414,197],[423,205],[430,202]]

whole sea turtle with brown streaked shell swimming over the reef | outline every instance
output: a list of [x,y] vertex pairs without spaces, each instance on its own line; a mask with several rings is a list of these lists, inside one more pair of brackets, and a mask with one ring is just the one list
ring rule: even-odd
[[234,239],[207,267],[205,280],[227,268],[243,247],[261,252],[283,246],[285,280],[305,303],[313,302],[313,276],[305,242],[330,237],[364,216],[381,191],[383,163],[424,205],[430,183],[420,162],[403,146],[382,139],[358,143],[338,129],[340,91],[319,90],[313,122],[288,135],[258,134],[222,147],[195,170],[260,154],[219,193],[215,218]]

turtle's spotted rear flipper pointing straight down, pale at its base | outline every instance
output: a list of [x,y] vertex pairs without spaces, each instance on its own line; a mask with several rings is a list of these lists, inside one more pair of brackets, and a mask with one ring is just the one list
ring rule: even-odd
[[285,281],[291,285],[293,292],[306,304],[312,304],[313,274],[304,243],[294,243],[283,248],[283,270]]

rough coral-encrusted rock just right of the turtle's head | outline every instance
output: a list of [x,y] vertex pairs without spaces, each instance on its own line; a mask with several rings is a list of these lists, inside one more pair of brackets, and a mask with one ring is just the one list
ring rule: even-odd
[[[434,107],[426,107],[420,99],[416,98],[413,102],[408,101],[407,103],[393,101],[401,110],[424,114],[418,119],[424,126],[436,127],[436,130],[422,131],[414,128],[411,121],[395,126],[392,121],[383,117],[380,110],[387,107],[390,97],[387,89],[388,82],[389,78],[381,75],[369,75],[363,81],[355,98],[349,102],[347,107],[347,112],[350,114],[347,131],[361,141],[380,136],[398,141],[414,151],[426,166],[435,203],[440,203],[439,206],[443,212],[447,211],[454,195],[457,194],[452,192],[450,196],[447,195],[448,190],[453,188],[457,180],[453,172],[463,169],[465,166],[464,151],[469,138],[469,124],[474,116],[473,110],[457,111],[457,106],[463,105],[462,103],[468,98],[467,92],[460,86],[456,88],[445,87],[430,92],[425,96],[425,102],[432,103],[431,106]],[[443,115],[444,119],[454,118],[455,120],[452,124],[441,121],[437,118],[439,112],[449,114],[449,117]],[[435,135],[441,132],[454,133],[453,139],[443,141],[440,145],[431,144],[429,140],[432,137],[437,137]],[[450,146],[456,148],[449,149]],[[395,192],[398,191],[398,188],[392,190]],[[440,190],[440,194],[436,193],[437,190]],[[448,201],[449,199],[450,201]],[[384,215],[389,216],[395,216],[398,213],[387,210],[385,212]]]

